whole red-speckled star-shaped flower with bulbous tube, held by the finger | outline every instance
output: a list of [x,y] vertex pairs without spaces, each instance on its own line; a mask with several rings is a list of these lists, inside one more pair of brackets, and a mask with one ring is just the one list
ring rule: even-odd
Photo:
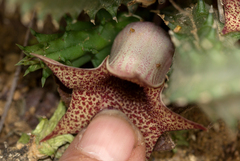
[[173,52],[173,44],[163,29],[150,22],[135,22],[118,34],[110,56],[97,68],[74,68],[32,54],[43,60],[66,87],[73,89],[66,114],[42,141],[78,133],[104,109],[122,111],[139,128],[145,138],[147,158],[166,131],[205,130],[172,112],[161,101]]

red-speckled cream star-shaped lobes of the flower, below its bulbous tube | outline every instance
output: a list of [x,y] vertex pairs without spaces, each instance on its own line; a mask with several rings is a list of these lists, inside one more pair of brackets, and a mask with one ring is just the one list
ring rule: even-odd
[[[64,85],[73,89],[66,114],[51,134],[42,141],[66,133],[78,133],[103,109],[118,109],[140,129],[150,157],[159,136],[165,131],[205,128],[170,111],[161,101],[164,84],[157,88],[140,87],[117,78],[106,68],[106,59],[94,69],[73,68],[41,55],[42,59]],[[124,139],[124,138],[123,138]]]

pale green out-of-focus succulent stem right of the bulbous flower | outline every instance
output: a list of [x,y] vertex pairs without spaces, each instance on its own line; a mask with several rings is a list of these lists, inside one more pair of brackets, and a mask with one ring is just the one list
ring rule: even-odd
[[[229,12],[233,3],[236,7]],[[174,15],[169,14],[169,10],[159,14],[170,27],[176,47],[170,82],[164,94],[170,103],[179,106],[197,103],[209,118],[222,118],[233,127],[240,118],[240,77],[237,74],[240,55],[236,45],[240,33],[229,30],[229,25],[239,25],[229,17],[238,13],[240,7],[234,0],[226,0],[224,4],[223,33],[229,32],[226,35],[221,34],[223,24],[217,12],[203,0],[194,7],[175,6]]]

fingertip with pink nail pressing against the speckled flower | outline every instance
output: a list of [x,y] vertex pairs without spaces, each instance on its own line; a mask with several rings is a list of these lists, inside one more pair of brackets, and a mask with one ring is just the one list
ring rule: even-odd
[[104,110],[97,115],[76,136],[60,161],[144,161],[142,135],[123,115],[116,110]]

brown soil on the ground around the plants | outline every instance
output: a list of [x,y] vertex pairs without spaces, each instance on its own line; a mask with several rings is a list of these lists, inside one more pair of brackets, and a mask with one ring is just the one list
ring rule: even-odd
[[[38,31],[36,20],[32,27]],[[16,44],[23,45],[27,27],[20,21],[19,11],[6,15],[3,4],[0,5],[0,116],[4,111],[6,99],[13,82],[15,64],[20,58],[20,49]],[[50,17],[46,20],[42,33],[56,31]],[[29,44],[36,43],[30,37]],[[38,124],[40,116],[50,117],[60,100],[56,83],[53,78],[41,87],[41,72],[37,71],[24,76],[26,67],[22,67],[13,101],[0,133],[0,149],[15,146],[21,133],[30,133]],[[174,108],[172,108],[174,110]],[[240,161],[240,133],[228,128],[221,120],[211,122],[195,105],[191,105],[184,117],[203,124],[208,131],[187,130],[171,132],[177,146],[169,152],[154,152],[153,161]],[[176,110],[174,110],[176,111]],[[179,112],[179,111],[178,111]]]

